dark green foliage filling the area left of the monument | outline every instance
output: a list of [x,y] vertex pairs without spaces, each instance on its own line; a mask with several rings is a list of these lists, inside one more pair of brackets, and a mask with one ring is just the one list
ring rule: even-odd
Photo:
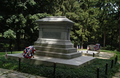
[[[38,36],[39,29],[35,20],[48,16],[47,13],[40,13],[40,8],[38,9],[38,7],[43,6],[42,3],[44,1],[4,0],[0,1],[0,3],[0,29],[3,29],[0,33],[4,33],[7,30],[14,31],[18,49],[20,49],[21,39],[26,39],[29,42],[27,45],[33,44]],[[39,3],[40,5],[38,5]]]

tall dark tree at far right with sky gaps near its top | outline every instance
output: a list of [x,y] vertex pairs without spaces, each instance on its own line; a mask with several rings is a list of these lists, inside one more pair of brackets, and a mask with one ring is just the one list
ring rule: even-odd
[[[103,47],[105,49],[106,45],[111,45],[112,49],[112,33],[115,32],[115,8],[114,8],[114,1],[113,0],[99,0],[97,5],[100,9],[99,21],[100,21],[100,30],[99,32],[102,33],[103,38]],[[113,30],[115,29],[115,30]],[[109,37],[109,38],[108,38]],[[111,41],[109,41],[111,40]]]

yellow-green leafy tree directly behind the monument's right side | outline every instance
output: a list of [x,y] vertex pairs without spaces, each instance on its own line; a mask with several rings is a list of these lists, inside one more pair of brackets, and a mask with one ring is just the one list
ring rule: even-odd
[[[90,3],[93,3],[91,4]],[[99,21],[97,20],[98,8],[95,8],[96,1],[89,0],[61,0],[59,5],[55,7],[56,11],[53,15],[66,16],[75,22],[71,29],[71,40],[76,45],[83,45],[88,41],[88,37],[95,36],[90,34],[91,30],[96,32],[99,28]]]

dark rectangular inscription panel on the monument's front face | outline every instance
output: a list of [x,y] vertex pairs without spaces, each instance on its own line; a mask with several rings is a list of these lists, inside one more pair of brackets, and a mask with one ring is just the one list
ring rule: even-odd
[[42,33],[43,38],[50,38],[50,39],[61,39],[60,32],[44,32]]

